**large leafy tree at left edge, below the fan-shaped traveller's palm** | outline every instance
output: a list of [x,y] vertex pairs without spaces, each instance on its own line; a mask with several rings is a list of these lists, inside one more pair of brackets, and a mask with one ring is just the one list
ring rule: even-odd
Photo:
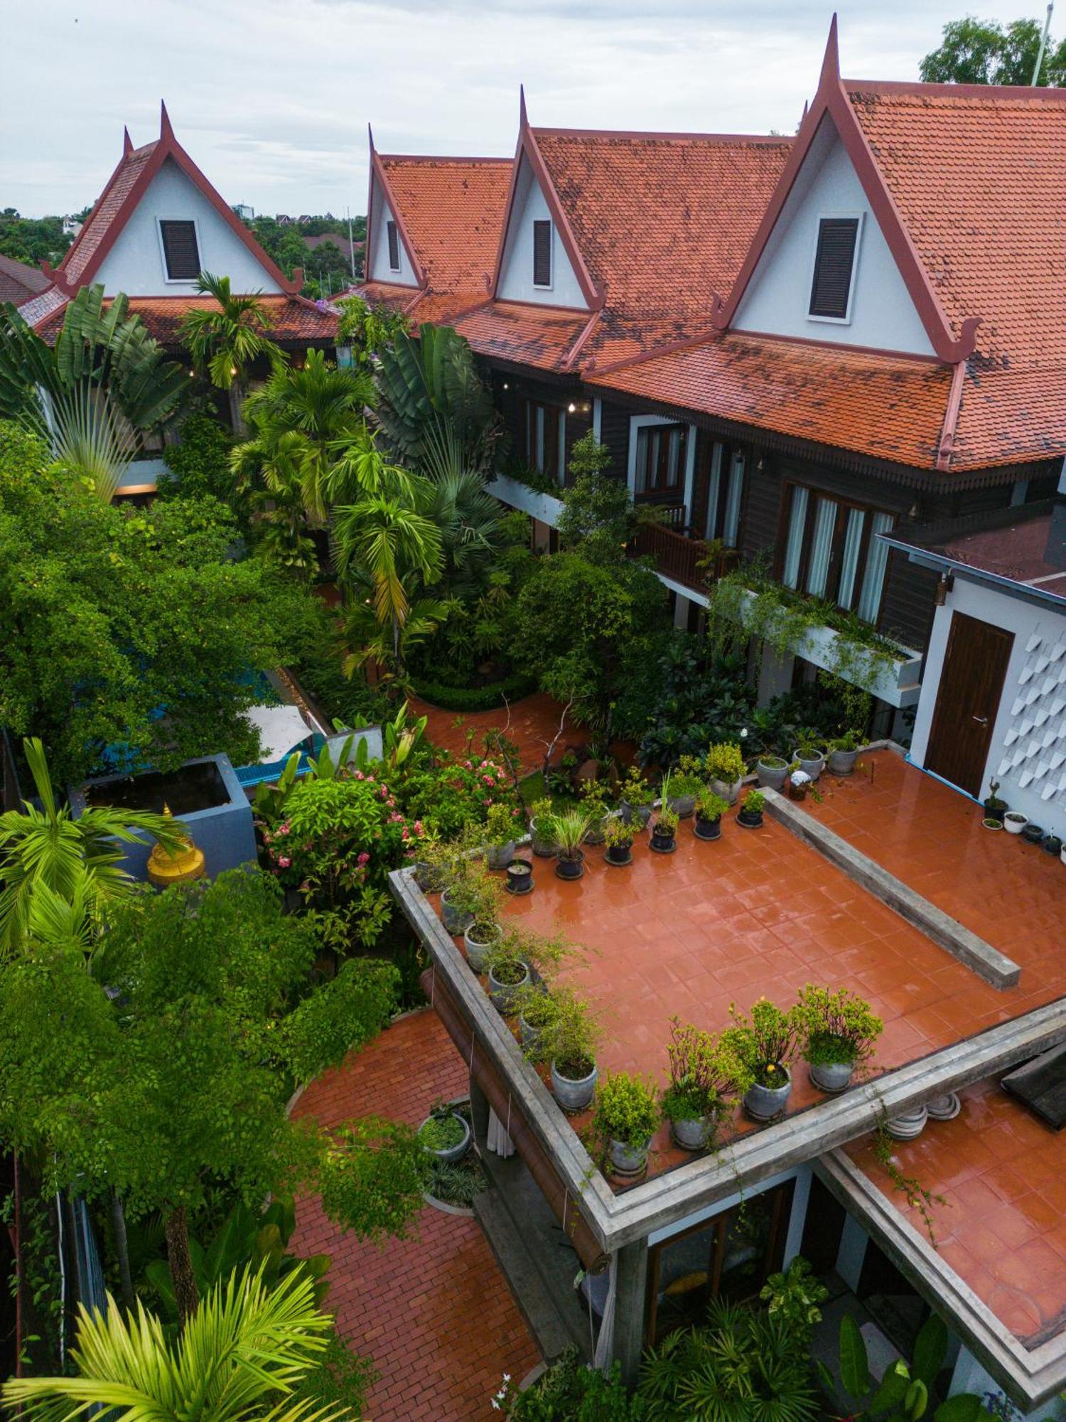
[[210,499],[101,503],[0,421],[0,722],[40,737],[60,784],[259,754],[249,673],[284,661],[287,609],[307,594],[233,562],[236,540]]

